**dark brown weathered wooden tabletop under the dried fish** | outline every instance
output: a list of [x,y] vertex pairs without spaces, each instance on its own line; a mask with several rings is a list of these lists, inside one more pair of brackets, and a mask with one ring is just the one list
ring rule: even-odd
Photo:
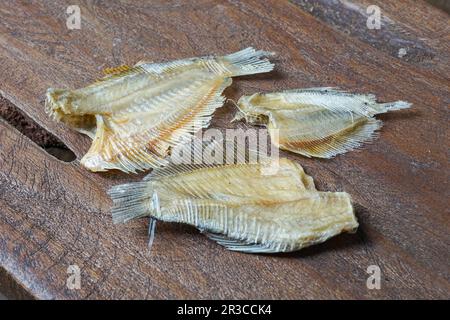
[[[66,28],[79,4],[81,30]],[[381,30],[366,7],[382,9]],[[338,13],[337,13],[338,12]],[[236,79],[242,94],[313,86],[407,100],[383,115],[359,152],[301,163],[320,190],[354,200],[360,228],[297,253],[229,252],[196,230],[146,220],[115,226],[105,190],[138,179],[59,161],[0,120],[0,290],[22,298],[450,298],[449,17],[426,2],[2,1],[0,94],[61,139],[78,159],[89,140],[44,113],[48,87],[76,88],[100,70],[140,59],[278,52],[272,74]],[[400,48],[407,54],[399,58]],[[214,126],[228,126],[220,109]],[[69,265],[81,289],[66,287]],[[381,289],[366,287],[367,267]]]

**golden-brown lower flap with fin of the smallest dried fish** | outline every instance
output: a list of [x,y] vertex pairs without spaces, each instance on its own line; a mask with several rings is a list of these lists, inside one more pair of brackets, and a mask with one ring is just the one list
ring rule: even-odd
[[338,154],[357,149],[362,144],[375,139],[377,136],[376,130],[381,125],[380,120],[360,117],[347,127],[339,128],[335,125],[336,131],[334,132],[326,132],[327,128],[324,128],[323,134],[315,130],[313,134],[309,135],[282,137],[283,133],[280,130],[279,145],[282,149],[300,153],[307,157],[332,158]]

